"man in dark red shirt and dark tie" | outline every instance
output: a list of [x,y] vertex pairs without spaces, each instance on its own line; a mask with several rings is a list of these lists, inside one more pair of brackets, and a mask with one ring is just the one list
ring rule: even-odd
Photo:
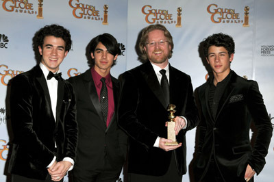
[[119,81],[110,75],[121,49],[116,38],[101,34],[87,47],[90,67],[71,77],[77,102],[79,145],[74,182],[114,182],[119,179],[127,150],[127,135],[117,126]]

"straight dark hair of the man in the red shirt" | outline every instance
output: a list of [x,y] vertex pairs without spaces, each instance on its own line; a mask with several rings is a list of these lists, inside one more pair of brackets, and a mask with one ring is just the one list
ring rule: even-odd
[[[105,46],[105,48],[108,50],[108,52],[111,53],[112,55],[114,56],[121,55],[121,49],[119,48],[119,44],[116,38],[114,38],[114,36],[108,33],[105,33],[105,34],[96,36],[95,38],[92,38],[92,40],[90,40],[90,43],[88,44],[89,56],[91,53],[95,52],[95,49],[97,45],[99,44],[99,42],[101,42]],[[114,60],[112,66],[114,66],[116,62],[117,60]],[[90,67],[94,66],[95,60],[91,58],[89,64],[90,64]]]

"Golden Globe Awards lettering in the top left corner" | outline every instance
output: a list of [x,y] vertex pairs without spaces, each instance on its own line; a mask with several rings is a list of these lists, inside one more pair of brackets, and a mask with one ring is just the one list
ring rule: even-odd
[[[6,12],[16,12],[21,14],[37,14],[34,4],[28,0],[2,0],[2,8]],[[40,3],[41,5],[41,3]],[[42,5],[40,6],[42,8]]]

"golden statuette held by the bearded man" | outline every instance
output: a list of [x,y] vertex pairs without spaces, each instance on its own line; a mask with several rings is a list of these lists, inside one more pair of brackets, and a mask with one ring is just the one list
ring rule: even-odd
[[169,122],[167,122],[167,139],[172,140],[173,142],[166,142],[165,145],[178,145],[178,142],[176,141],[176,135],[175,135],[175,116],[174,113],[176,106],[173,104],[169,104],[169,107],[167,108],[167,111],[169,112]]

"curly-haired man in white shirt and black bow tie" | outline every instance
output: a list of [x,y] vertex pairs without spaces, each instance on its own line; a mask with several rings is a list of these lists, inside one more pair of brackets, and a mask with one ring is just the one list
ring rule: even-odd
[[73,168],[78,132],[73,87],[59,73],[71,34],[47,25],[36,32],[33,45],[40,64],[11,80],[14,140],[8,170],[13,182],[63,181]]

